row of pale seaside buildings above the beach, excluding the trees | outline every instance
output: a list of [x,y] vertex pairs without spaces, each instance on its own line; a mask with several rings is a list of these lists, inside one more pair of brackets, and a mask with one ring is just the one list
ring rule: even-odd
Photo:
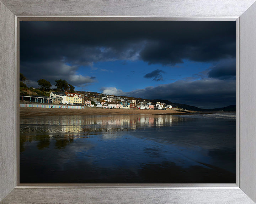
[[[59,92],[51,91],[50,96],[37,96],[37,95],[20,95],[21,107],[46,107],[46,106],[30,106],[29,104],[48,104],[50,108],[118,108],[118,109],[176,109],[166,103],[156,102],[152,103],[148,100],[138,100],[136,98],[110,96],[93,92]],[[27,106],[22,106],[26,104]]]

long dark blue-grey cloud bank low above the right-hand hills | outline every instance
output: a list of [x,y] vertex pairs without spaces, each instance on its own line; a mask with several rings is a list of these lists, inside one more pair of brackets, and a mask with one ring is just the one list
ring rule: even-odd
[[108,90],[111,90],[111,94],[114,95],[163,99],[208,109],[236,104],[235,80],[211,78],[194,81],[179,80],[170,84],[146,87],[130,92],[122,92],[115,87],[103,87],[104,93],[107,93]]

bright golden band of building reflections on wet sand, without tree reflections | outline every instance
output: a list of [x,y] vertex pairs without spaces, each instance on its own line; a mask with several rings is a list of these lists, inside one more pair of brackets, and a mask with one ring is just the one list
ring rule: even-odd
[[60,116],[23,119],[20,124],[21,134],[45,133],[49,135],[62,133],[65,135],[90,135],[93,132],[127,131],[136,128],[151,128],[171,126],[188,120],[188,118],[174,117],[172,115],[108,115],[108,116]]

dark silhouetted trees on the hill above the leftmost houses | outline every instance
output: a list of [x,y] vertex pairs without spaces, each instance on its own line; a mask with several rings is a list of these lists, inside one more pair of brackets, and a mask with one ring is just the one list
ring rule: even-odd
[[[26,81],[27,81],[27,78],[22,73],[20,73],[20,87],[27,87],[25,84]],[[57,91],[61,91],[61,92],[75,91],[75,87],[69,84],[66,80],[58,79],[54,81],[55,81],[54,85],[57,87]],[[37,83],[40,86],[40,89],[42,91],[49,91],[50,87],[52,87],[52,84],[45,79],[39,79]]]

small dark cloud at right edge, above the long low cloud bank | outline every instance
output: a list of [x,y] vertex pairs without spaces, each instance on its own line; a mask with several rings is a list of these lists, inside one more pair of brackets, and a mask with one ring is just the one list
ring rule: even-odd
[[219,62],[208,72],[208,77],[216,79],[235,79],[236,78],[236,60],[228,59]]

